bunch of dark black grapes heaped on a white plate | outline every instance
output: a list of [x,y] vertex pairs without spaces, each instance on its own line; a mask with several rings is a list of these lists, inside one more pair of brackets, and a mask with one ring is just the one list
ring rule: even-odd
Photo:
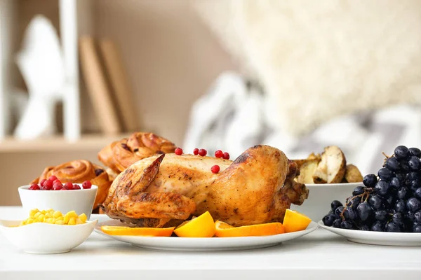
[[347,230],[421,232],[421,151],[398,146],[375,174],[363,178],[345,205],[335,200],[323,223]]

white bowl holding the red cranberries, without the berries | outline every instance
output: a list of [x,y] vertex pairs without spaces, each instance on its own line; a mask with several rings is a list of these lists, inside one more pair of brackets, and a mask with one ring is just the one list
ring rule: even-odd
[[93,202],[98,192],[98,186],[80,190],[29,190],[29,185],[18,188],[22,207],[27,215],[32,209],[54,209],[66,214],[68,211],[76,211],[80,215],[84,213],[88,219],[91,217]]

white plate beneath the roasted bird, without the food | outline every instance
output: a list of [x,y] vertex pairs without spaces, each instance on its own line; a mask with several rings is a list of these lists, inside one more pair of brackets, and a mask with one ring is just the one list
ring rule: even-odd
[[188,237],[139,237],[107,235],[101,230],[102,225],[121,225],[119,221],[109,220],[98,223],[95,232],[100,235],[116,239],[142,248],[166,251],[234,251],[255,248],[266,248],[302,237],[318,228],[316,222],[310,223],[306,230],[300,232],[283,233],[265,237],[212,237],[212,238],[188,238]]

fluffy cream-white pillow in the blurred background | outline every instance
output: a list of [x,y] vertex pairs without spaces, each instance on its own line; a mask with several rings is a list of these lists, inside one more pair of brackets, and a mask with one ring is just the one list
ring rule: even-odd
[[302,135],[335,117],[421,104],[421,1],[193,1],[260,80],[277,131]]

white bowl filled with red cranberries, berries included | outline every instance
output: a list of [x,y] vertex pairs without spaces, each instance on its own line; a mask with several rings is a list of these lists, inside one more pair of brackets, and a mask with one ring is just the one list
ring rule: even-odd
[[41,181],[39,184],[21,186],[18,188],[20,201],[25,212],[31,209],[54,209],[67,213],[85,213],[91,216],[93,203],[98,192],[98,186],[90,181],[83,183],[61,183],[55,176]]

